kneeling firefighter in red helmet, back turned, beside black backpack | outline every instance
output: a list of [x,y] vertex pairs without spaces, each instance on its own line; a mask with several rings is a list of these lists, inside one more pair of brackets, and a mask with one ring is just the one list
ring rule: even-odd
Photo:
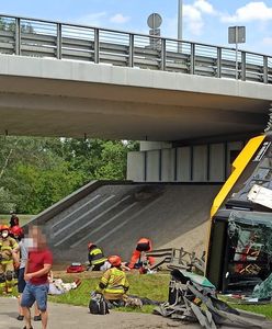
[[95,293],[104,296],[109,308],[124,306],[129,284],[126,273],[122,270],[121,257],[111,256],[107,260],[111,269],[104,272]]

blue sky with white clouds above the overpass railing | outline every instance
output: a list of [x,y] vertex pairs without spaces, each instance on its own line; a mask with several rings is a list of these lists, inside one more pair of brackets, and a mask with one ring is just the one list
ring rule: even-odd
[[[0,14],[148,33],[162,16],[161,35],[177,37],[178,0],[0,0]],[[228,26],[246,26],[239,48],[272,55],[272,0],[183,0],[183,39],[228,46]]]

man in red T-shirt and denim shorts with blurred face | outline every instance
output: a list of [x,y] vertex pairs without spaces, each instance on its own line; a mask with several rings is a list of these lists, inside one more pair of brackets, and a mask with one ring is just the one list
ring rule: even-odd
[[47,295],[48,273],[53,264],[53,256],[46,246],[46,238],[37,226],[30,228],[30,238],[33,246],[29,248],[29,258],[25,264],[24,280],[26,285],[23,291],[21,306],[24,314],[24,329],[33,329],[31,325],[30,308],[36,302],[41,311],[42,328],[47,328]]

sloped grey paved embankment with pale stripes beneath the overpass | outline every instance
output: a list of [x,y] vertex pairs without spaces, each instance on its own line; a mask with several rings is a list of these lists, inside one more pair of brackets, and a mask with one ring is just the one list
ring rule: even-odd
[[140,237],[152,239],[154,248],[182,246],[202,251],[207,235],[204,225],[219,185],[128,182],[88,189],[81,198],[34,220],[45,226],[56,262],[86,261],[88,241],[97,242],[106,254],[128,259]]

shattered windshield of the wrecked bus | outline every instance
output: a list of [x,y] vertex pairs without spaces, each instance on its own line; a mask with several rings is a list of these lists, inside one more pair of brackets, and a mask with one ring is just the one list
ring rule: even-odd
[[272,270],[272,214],[231,212],[228,245],[230,284],[251,281],[254,285],[267,279]]

